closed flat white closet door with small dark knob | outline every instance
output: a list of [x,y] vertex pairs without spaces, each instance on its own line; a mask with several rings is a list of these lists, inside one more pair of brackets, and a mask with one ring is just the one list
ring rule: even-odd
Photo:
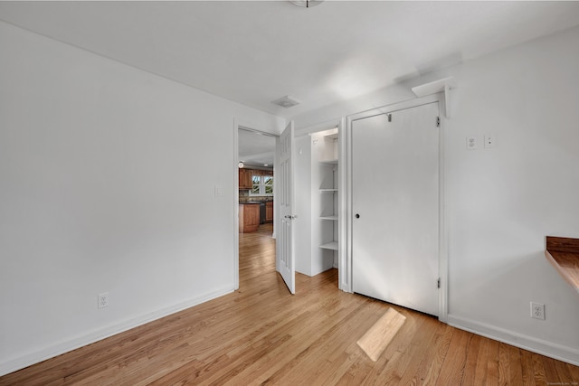
[[431,103],[352,124],[354,292],[431,315],[439,314],[438,115]]

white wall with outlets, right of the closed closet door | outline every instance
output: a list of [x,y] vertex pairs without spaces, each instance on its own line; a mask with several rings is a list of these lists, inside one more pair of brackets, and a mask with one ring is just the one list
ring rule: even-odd
[[[295,117],[297,127],[413,98],[446,76],[449,322],[579,364],[579,297],[544,257],[579,238],[579,28]],[[484,149],[485,134],[498,146]],[[478,150],[466,150],[476,137]],[[378,165],[368,167],[379,168]],[[546,305],[530,318],[529,302]]]

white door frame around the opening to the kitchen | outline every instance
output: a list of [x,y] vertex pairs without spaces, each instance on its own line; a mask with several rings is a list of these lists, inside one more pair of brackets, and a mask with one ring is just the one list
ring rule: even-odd
[[[261,130],[254,128],[251,124],[245,124],[239,122],[237,119],[233,119],[233,170],[237,171],[239,164],[239,133],[240,128],[250,129],[252,131],[260,132],[269,136],[276,137],[276,147],[275,147],[275,158],[273,163],[273,175],[278,174],[278,158],[280,156],[280,134],[273,133],[267,130]],[[233,173],[233,290],[239,289],[239,173]],[[276,188],[275,180],[273,183],[273,234],[272,237],[275,239],[275,232],[278,224],[278,209],[277,200],[275,199],[278,194]],[[277,254],[277,250],[276,250]],[[278,257],[276,256],[276,268],[278,264]]]

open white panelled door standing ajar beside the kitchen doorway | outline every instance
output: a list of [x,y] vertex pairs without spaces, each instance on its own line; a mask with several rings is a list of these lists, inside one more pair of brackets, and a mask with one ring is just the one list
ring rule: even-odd
[[293,121],[283,130],[280,136],[280,177],[276,183],[279,186],[280,231],[277,238],[277,268],[281,278],[286,282],[291,294],[296,293],[296,268],[293,237],[293,219],[297,216],[292,212],[294,205],[293,189]]

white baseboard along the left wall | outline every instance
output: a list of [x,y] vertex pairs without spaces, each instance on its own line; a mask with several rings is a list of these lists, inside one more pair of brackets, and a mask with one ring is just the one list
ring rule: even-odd
[[223,295],[227,295],[232,292],[232,287],[222,288],[209,294],[205,294],[201,297],[194,297],[192,299],[186,300],[185,302],[173,306],[167,306],[147,315],[141,315],[115,325],[108,325],[104,328],[94,330],[88,334],[84,334],[82,336],[69,339],[61,343],[52,344],[51,346],[44,347],[43,349],[31,353],[26,353],[7,361],[2,361],[0,362],[0,376],[24,369],[24,367],[28,367],[38,362],[43,362],[57,355],[61,355],[62,353],[68,353],[87,344],[93,344],[102,339],[108,338],[109,336],[123,333],[130,330],[131,328],[138,327],[139,325],[146,325],[149,322],[160,319],[167,315],[175,314],[192,306],[200,305],[216,297],[223,297]]

